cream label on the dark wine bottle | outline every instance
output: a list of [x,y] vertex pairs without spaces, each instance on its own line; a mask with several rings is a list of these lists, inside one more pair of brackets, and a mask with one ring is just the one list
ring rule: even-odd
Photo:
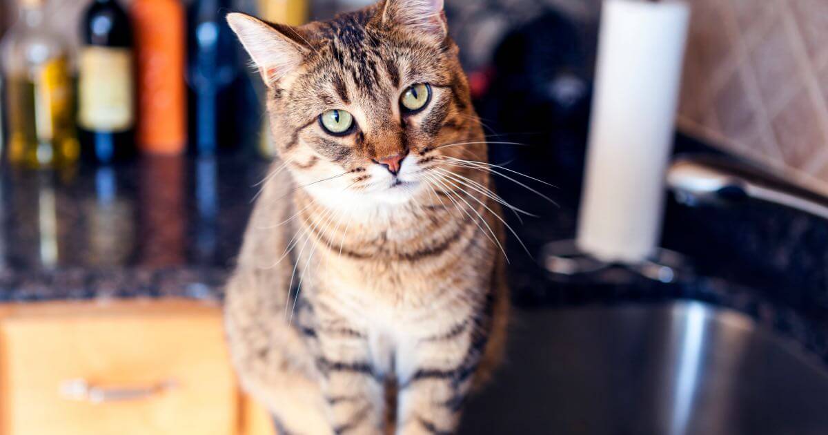
[[122,132],[132,128],[132,52],[87,46],[80,52],[78,123],[87,130]]

